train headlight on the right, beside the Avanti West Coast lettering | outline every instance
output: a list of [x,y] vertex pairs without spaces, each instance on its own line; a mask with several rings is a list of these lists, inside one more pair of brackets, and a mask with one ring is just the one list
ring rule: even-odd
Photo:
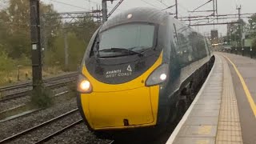
[[168,64],[162,64],[156,70],[154,70],[149,78],[146,80],[146,86],[158,85],[162,82],[165,82],[169,74]]

